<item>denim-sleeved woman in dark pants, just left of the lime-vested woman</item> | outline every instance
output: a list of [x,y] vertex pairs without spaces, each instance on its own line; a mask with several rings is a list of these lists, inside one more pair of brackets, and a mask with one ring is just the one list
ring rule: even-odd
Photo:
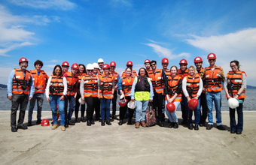
[[[126,68],[125,73],[126,73],[125,77],[121,77],[117,84],[117,90],[120,92],[120,95],[121,95],[120,99],[125,98],[127,102],[129,102],[131,101],[130,94],[131,94],[134,78],[131,76],[132,74],[131,68]],[[123,118],[126,114],[126,110],[127,110],[127,104],[125,107],[120,107],[119,125],[123,124]],[[128,112],[129,112],[129,119],[127,124],[133,124],[132,118],[133,118],[134,109],[128,108]]]

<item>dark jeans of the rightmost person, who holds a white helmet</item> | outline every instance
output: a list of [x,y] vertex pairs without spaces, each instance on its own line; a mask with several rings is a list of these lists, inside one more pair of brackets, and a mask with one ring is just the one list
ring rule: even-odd
[[[239,99],[242,101],[244,101],[244,98]],[[243,113],[242,113],[242,106],[243,104],[239,104],[239,107],[237,107],[236,109],[231,109],[230,108],[230,127],[231,130],[235,130],[235,131],[239,131],[242,132],[242,126],[243,126]],[[237,112],[237,124],[236,124],[236,117],[235,117],[235,113]]]

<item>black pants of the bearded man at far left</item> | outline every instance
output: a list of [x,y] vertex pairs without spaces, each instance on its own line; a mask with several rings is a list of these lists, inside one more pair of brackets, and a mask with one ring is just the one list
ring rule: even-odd
[[13,94],[13,100],[11,101],[11,127],[16,127],[16,115],[20,105],[20,114],[18,125],[23,124],[26,107],[29,102],[29,95],[25,94]]

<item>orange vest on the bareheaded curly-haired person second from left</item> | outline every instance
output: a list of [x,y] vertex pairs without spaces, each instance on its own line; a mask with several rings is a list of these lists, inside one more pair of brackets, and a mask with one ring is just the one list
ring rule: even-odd
[[39,76],[36,69],[31,70],[30,73],[34,81],[35,94],[43,94],[45,92],[46,83],[49,77],[43,70],[40,71]]

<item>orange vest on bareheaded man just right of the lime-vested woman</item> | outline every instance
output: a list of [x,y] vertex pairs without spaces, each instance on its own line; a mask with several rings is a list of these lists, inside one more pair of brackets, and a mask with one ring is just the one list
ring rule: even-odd
[[149,71],[148,77],[151,79],[153,90],[155,89],[158,94],[162,93],[164,87],[162,70],[157,69],[155,73]]

